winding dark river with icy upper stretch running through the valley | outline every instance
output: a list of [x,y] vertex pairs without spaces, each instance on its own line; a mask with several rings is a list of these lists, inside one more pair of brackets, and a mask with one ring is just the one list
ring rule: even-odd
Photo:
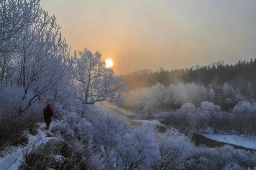
[[[154,121],[157,124],[157,128],[159,128],[159,131],[163,132],[167,128],[164,124],[161,124],[154,116],[138,115],[131,111],[127,111],[125,109],[118,108],[110,104],[103,104],[102,108],[108,113],[116,113],[118,116],[124,117],[125,120],[127,120],[132,126],[138,126],[142,124],[143,121]],[[237,149],[251,150],[242,146],[227,144],[225,142],[218,142],[216,140],[208,139],[200,134],[191,134],[191,139],[196,146],[200,144],[203,144],[207,147],[219,147],[224,145],[230,145]]]

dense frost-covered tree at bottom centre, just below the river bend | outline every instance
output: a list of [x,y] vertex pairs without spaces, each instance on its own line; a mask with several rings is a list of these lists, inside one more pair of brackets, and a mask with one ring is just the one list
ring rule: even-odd
[[159,151],[154,139],[154,126],[142,124],[124,136],[117,135],[117,169],[151,169],[159,160]]

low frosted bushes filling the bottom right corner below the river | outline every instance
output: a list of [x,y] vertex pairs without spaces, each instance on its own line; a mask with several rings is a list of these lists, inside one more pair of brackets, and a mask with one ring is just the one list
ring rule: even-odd
[[[240,169],[253,169],[256,166],[256,153],[234,149],[231,146],[209,148],[196,147],[192,155],[188,156],[185,169],[225,169],[241,167]],[[237,166],[238,165],[238,166]]]

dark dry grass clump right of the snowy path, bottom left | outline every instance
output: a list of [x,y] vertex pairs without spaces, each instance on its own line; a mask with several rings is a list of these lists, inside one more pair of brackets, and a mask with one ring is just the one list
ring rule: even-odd
[[[23,152],[24,162],[20,170],[80,170],[82,155],[76,154],[72,145],[63,141],[50,140],[40,146],[27,147]],[[57,161],[57,158],[61,161]],[[83,169],[83,168],[82,168]]]

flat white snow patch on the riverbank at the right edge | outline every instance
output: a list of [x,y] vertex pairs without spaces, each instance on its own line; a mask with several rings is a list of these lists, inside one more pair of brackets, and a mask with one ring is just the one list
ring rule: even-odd
[[229,144],[234,144],[237,146],[242,146],[249,149],[256,150],[256,139],[246,138],[239,135],[215,135],[215,134],[200,134],[206,138],[216,140],[218,142],[225,142]]

